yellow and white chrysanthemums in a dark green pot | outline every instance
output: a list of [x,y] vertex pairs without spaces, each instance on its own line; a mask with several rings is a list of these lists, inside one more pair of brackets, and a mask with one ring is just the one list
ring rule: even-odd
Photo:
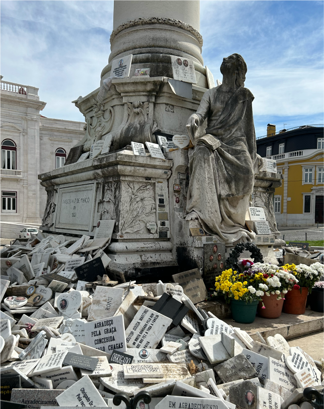
[[215,295],[224,294],[225,301],[231,303],[232,317],[238,323],[252,323],[264,291],[263,274],[251,269],[238,273],[236,270],[224,270],[215,279]]

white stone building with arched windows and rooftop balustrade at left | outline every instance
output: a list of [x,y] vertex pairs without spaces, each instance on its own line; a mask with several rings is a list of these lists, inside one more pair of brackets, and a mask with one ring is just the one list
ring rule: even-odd
[[38,174],[64,165],[84,122],[43,117],[38,88],[1,77],[1,221],[41,224],[45,188]]

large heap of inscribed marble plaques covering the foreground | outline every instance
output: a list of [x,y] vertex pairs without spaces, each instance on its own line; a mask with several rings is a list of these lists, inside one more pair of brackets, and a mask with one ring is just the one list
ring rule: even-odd
[[147,391],[138,409],[286,409],[323,391],[319,363],[281,335],[255,341],[197,308],[197,271],[110,280],[108,244],[38,234],[1,250],[1,400],[117,408],[116,393]]

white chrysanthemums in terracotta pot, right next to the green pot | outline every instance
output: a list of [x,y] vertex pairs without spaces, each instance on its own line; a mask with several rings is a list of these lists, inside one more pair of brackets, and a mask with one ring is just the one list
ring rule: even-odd
[[263,318],[281,316],[285,294],[297,285],[298,280],[292,272],[283,267],[268,263],[256,263],[252,270],[263,274],[263,284],[259,288],[265,291],[258,306],[258,314]]

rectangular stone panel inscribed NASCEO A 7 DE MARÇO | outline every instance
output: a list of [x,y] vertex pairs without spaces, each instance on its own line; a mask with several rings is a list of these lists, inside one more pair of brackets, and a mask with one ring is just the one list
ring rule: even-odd
[[94,183],[59,189],[56,228],[89,230]]

